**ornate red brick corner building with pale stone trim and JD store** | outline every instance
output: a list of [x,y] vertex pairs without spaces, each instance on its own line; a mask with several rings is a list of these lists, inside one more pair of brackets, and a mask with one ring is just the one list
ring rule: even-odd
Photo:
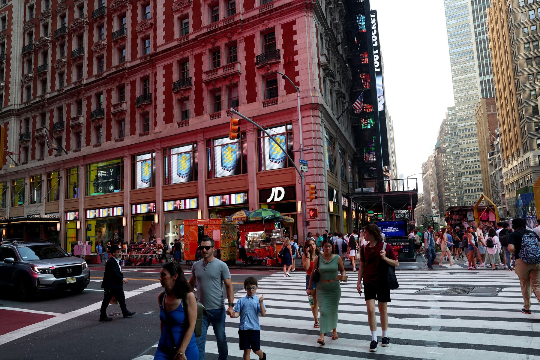
[[[279,135],[295,162],[300,136],[312,148],[306,183],[318,200],[308,207],[320,216],[308,229],[352,230],[355,145],[349,113],[335,120],[352,86],[344,6],[8,1],[0,121],[17,154],[0,172],[0,226],[49,236],[59,221],[70,249],[115,233],[172,240],[185,219],[271,207],[297,219],[303,239],[298,174],[246,121],[228,139],[234,107]],[[302,134],[296,90],[277,71],[299,86]],[[279,201],[273,187],[284,188]]]

